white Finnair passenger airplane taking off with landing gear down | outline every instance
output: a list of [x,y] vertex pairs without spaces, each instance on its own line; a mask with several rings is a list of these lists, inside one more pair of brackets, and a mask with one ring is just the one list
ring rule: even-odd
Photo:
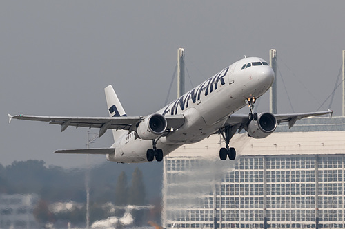
[[[273,84],[274,72],[264,59],[248,57],[236,61],[208,78],[183,96],[148,116],[127,116],[112,85],[105,90],[109,117],[62,117],[8,115],[11,120],[34,120],[60,124],[61,132],[69,126],[99,128],[99,137],[112,129],[114,144],[101,149],[67,149],[55,153],[106,155],[119,163],[160,162],[184,144],[199,142],[220,134],[225,147],[219,149],[220,160],[235,160],[236,150],[230,139],[243,129],[252,138],[266,138],[277,124],[311,116],[332,115],[333,111],[273,114],[255,113],[257,98]],[[235,114],[248,105],[250,112]]]

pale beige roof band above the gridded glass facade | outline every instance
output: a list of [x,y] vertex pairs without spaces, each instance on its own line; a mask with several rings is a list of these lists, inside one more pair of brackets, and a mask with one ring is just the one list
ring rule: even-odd
[[[195,144],[185,144],[168,157],[219,157],[224,147],[220,135]],[[345,154],[345,117],[306,118],[288,129],[279,125],[267,138],[249,138],[247,133],[235,134],[230,141],[237,155],[334,155]]]

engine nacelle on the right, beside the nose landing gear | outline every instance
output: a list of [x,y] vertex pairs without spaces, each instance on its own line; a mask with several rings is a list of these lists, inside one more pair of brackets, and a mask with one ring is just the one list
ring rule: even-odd
[[260,113],[257,120],[248,124],[248,135],[252,138],[266,138],[277,128],[277,119],[273,113]]

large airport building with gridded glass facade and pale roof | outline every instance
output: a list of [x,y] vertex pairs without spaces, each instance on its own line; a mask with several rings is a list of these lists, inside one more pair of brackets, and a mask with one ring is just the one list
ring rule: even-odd
[[268,138],[219,135],[164,157],[165,228],[345,228],[345,118],[306,118]]

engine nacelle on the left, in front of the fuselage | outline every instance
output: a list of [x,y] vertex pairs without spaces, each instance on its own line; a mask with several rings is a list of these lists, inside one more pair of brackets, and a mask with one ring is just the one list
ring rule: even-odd
[[137,134],[141,139],[154,140],[163,135],[167,125],[168,123],[164,116],[159,113],[154,113],[150,116],[146,116],[146,118],[139,123]]

